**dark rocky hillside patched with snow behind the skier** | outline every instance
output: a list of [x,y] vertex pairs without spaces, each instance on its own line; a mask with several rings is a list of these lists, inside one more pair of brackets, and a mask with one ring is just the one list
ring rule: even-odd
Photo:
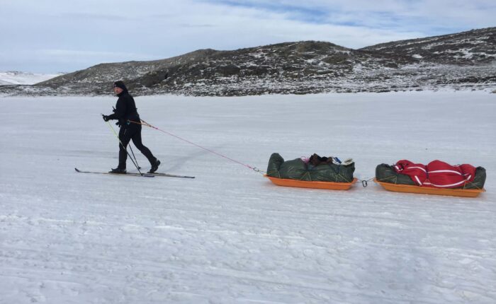
[[496,28],[348,49],[287,42],[196,52],[151,62],[98,64],[7,94],[111,94],[123,79],[135,95],[382,92],[496,86]]

